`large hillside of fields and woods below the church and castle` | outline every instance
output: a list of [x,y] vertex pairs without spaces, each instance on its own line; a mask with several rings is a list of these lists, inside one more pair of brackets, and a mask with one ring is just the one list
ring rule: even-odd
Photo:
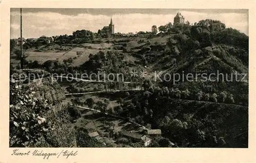
[[[41,52],[28,48],[27,52],[32,53],[25,67],[59,75],[78,73],[77,78],[82,73],[112,73],[115,82],[92,82],[90,87],[144,89],[128,93],[127,97],[115,97],[120,99],[114,111],[111,110],[114,114],[153,129],[160,128],[162,136],[178,147],[248,147],[248,36],[245,34],[231,28],[186,24],[157,35],[67,38],[58,41],[60,46],[71,47],[62,55],[49,52],[47,46]],[[36,61],[41,53],[44,59]],[[28,61],[33,57],[34,60]],[[121,82],[116,82],[117,74],[123,75]],[[125,85],[124,81],[131,83]],[[88,84],[59,83],[68,87],[67,91],[92,91]]]

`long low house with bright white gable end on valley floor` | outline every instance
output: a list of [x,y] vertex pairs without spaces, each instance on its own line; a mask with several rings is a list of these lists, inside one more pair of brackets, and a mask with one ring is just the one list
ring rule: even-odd
[[127,138],[131,138],[133,141],[140,142],[147,147],[151,144],[152,139],[147,137],[146,135],[138,134],[136,132],[128,132],[128,131],[121,131],[121,134]]

